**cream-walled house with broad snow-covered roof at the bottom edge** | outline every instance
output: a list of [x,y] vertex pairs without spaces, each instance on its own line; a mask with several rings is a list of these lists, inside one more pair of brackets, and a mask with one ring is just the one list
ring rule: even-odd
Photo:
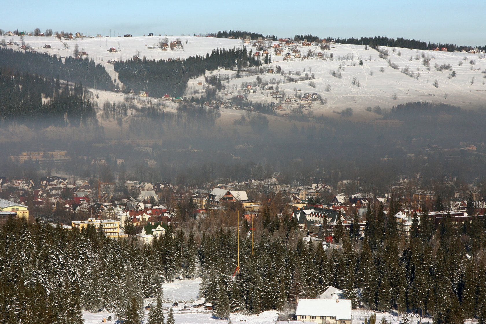
[[351,300],[299,299],[295,317],[304,323],[351,324]]

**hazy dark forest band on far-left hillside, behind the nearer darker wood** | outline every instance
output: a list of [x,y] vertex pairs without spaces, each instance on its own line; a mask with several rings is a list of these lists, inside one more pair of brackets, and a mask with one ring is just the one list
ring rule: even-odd
[[104,66],[89,58],[67,56],[63,62],[57,55],[0,48],[0,68],[82,83],[96,89],[115,89],[115,84]]

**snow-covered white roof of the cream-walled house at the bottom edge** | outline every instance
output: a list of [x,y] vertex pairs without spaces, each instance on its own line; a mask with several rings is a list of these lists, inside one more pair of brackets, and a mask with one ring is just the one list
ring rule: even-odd
[[299,299],[296,316],[335,316],[336,320],[351,320],[349,299]]

